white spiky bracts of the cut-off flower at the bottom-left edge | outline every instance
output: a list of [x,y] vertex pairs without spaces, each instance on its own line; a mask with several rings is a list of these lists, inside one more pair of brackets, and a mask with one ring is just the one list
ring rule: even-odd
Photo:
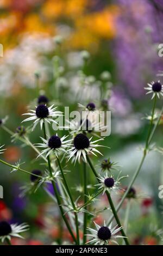
[[[10,225],[10,224],[8,224],[8,225]],[[23,239],[23,236],[21,236],[20,233],[28,231],[29,230],[29,225],[27,223],[22,223],[22,224],[19,224],[19,225],[17,223],[16,224],[11,224],[10,229],[11,229],[11,231],[10,231],[9,234],[0,236],[0,240],[2,242],[4,242],[4,240],[6,240],[6,239],[11,240],[12,236]]]

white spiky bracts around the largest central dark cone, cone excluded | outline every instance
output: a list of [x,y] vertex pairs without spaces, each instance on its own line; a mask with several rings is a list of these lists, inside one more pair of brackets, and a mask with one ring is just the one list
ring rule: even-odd
[[[80,135],[80,134],[82,134],[82,133],[78,133],[78,135]],[[87,138],[87,139],[89,139],[89,138]],[[69,161],[70,159],[72,159],[72,157],[75,156],[76,158],[75,158],[74,163],[76,163],[77,159],[78,159],[78,161],[80,161],[80,157],[83,156],[85,162],[87,162],[86,161],[86,154],[92,154],[92,155],[97,156],[95,153],[98,153],[98,154],[102,155],[102,153],[99,150],[97,150],[96,148],[98,148],[98,147],[105,147],[105,146],[99,145],[99,144],[96,144],[96,143],[99,142],[99,141],[103,141],[103,140],[104,140],[104,138],[101,138],[101,139],[97,139],[96,141],[92,142],[92,137],[91,137],[89,139],[89,147],[85,147],[85,148],[82,148],[82,149],[77,149],[75,147],[75,145],[74,145],[74,147],[72,147],[71,149],[67,150],[67,152],[70,152],[70,156],[68,157],[67,161]]]

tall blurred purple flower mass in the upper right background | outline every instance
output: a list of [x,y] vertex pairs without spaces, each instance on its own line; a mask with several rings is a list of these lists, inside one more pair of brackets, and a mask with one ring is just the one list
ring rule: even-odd
[[120,16],[115,44],[118,74],[128,93],[140,97],[145,95],[146,83],[162,70],[163,61],[156,44],[163,42],[163,12],[149,0],[118,0],[118,3]]

